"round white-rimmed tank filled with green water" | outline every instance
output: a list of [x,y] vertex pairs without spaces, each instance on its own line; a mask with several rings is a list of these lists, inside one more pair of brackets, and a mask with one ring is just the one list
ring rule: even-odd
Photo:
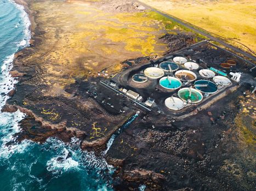
[[188,103],[199,103],[203,99],[203,94],[194,88],[184,87],[179,90],[178,96],[184,102]]

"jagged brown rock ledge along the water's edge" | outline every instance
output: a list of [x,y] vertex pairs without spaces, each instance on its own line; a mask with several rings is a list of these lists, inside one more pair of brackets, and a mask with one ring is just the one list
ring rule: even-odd
[[[10,97],[10,99],[2,109],[2,112],[15,112],[17,110],[20,110],[27,116],[24,120],[20,122],[22,131],[16,135],[18,136],[17,141],[30,139],[35,142],[43,143],[48,138],[55,136],[56,138],[59,138],[64,142],[69,142],[71,138],[75,136],[76,138],[81,140],[81,148],[83,150],[93,150],[96,153],[99,153],[105,150],[106,142],[109,140],[110,135],[115,132],[115,130],[112,130],[112,133],[110,133],[109,136],[107,136],[106,138],[96,139],[94,141],[87,141],[87,140],[84,140],[84,138],[88,136],[88,134],[86,134],[83,130],[80,130],[77,128],[69,128],[66,126],[67,124],[65,121],[56,123],[56,124],[50,123],[49,121],[45,121],[45,119],[42,116],[38,116],[38,113],[36,114],[31,109],[24,107],[26,106],[26,104],[24,104],[25,94],[21,92],[25,91],[26,94],[28,94],[30,92],[35,91],[36,89],[44,88],[44,87],[40,87],[40,85],[37,83],[38,77],[43,73],[43,68],[37,63],[29,63],[29,64],[24,63],[24,60],[26,59],[26,57],[28,57],[31,53],[35,53],[38,49],[38,46],[43,43],[44,31],[35,22],[35,17],[37,13],[35,11],[32,11],[29,8],[31,5],[31,2],[22,1],[22,0],[15,0],[15,2],[24,6],[24,10],[29,15],[30,22],[31,22],[30,46],[25,47],[24,49],[15,53],[13,68],[10,71],[10,74],[13,77],[18,78],[19,83],[15,85],[15,89],[13,91],[8,93],[8,96]],[[133,7],[133,5],[130,5],[129,3],[130,1],[128,3],[124,2],[124,5],[122,5],[124,6],[124,9],[120,9],[117,11],[123,11],[123,10],[130,11],[130,9],[134,9],[134,8],[129,8],[130,6]],[[24,84],[24,82],[26,81],[31,81],[32,83],[35,83],[36,86],[39,85],[39,87],[36,88],[33,86],[27,86]],[[21,95],[19,95],[19,93],[21,93]],[[128,116],[130,115],[131,114],[128,114]],[[120,127],[123,123],[124,121],[118,124],[117,128]],[[108,158],[108,162],[109,164],[112,164],[118,168],[121,168],[122,166],[122,162],[120,160]],[[116,173],[116,175],[117,174],[118,173]],[[161,174],[157,174],[153,171],[147,171],[143,169],[132,170],[132,171],[127,171],[127,170],[122,171],[122,176],[121,174],[118,174],[118,177],[122,177],[123,180],[127,180],[128,182],[149,181],[154,187],[154,190],[162,189],[161,182],[163,182],[163,180],[165,179],[164,176]],[[134,185],[137,186],[136,183]]]

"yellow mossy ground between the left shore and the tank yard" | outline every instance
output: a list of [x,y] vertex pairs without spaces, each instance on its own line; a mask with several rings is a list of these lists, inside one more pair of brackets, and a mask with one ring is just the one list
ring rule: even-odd
[[[98,71],[130,58],[163,55],[167,46],[158,40],[167,32],[184,30],[177,23],[152,11],[105,13],[86,2],[37,1],[36,22],[45,31],[43,43],[28,61],[47,70],[42,82],[45,95],[67,93],[75,79],[96,76]],[[120,68],[120,67],[118,67]]]

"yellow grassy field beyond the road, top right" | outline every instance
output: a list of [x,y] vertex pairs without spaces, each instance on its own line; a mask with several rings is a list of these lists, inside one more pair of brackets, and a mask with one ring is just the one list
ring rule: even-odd
[[[256,52],[256,1],[140,0],[224,38],[228,43]],[[249,49],[245,46],[249,47]]]

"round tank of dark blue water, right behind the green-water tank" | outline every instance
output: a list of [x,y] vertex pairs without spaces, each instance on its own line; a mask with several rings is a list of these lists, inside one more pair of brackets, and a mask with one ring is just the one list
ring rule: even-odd
[[203,93],[215,93],[218,91],[218,86],[209,80],[197,80],[194,86]]

